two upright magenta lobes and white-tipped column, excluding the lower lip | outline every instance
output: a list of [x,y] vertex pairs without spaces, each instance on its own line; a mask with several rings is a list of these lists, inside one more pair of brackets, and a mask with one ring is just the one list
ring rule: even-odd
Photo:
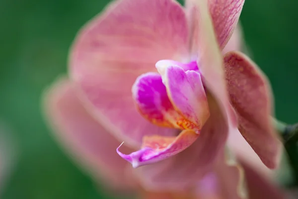
[[141,75],[132,89],[140,113],[158,126],[199,132],[209,109],[197,63],[161,60],[155,66],[158,73]]

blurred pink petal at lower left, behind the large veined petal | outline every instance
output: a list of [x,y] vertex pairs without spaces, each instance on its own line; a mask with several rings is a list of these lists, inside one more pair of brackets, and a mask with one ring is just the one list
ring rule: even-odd
[[44,107],[59,142],[95,180],[103,177],[114,188],[134,188],[127,162],[115,153],[120,143],[89,115],[69,80],[59,80],[46,92]]

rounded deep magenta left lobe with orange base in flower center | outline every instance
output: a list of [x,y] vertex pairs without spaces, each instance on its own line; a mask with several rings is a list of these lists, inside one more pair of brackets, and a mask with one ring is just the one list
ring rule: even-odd
[[174,109],[158,73],[141,75],[132,90],[140,113],[150,122],[159,126],[180,128],[176,121],[183,118]]

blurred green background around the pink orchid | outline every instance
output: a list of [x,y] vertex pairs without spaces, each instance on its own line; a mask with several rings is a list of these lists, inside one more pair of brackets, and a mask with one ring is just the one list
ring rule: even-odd
[[[40,111],[43,89],[66,73],[77,30],[107,2],[0,0],[0,118],[18,145],[3,199],[110,197],[62,152]],[[298,1],[246,0],[240,19],[253,59],[272,83],[277,118],[298,122]]]

